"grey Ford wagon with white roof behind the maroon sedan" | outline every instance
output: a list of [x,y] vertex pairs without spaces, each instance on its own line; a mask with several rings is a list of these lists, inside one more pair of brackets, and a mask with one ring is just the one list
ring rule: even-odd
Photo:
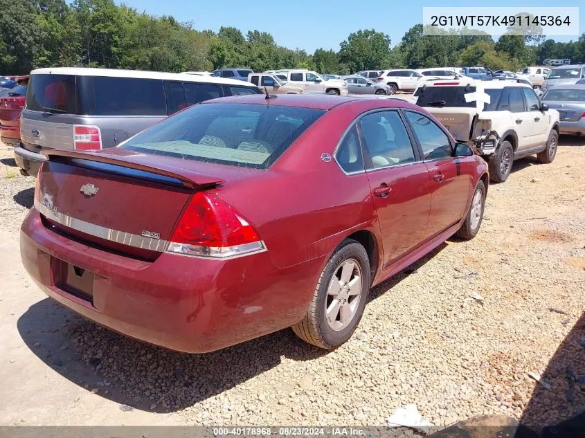
[[259,94],[240,80],[182,73],[55,68],[30,72],[15,160],[36,176],[45,149],[112,147],[192,104]]

